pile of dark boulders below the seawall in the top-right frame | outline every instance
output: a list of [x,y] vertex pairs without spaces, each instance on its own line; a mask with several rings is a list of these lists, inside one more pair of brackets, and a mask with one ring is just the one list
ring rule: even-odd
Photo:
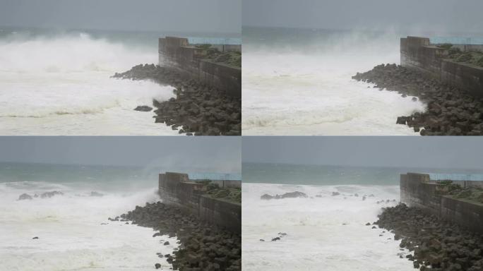
[[374,83],[374,88],[396,91],[403,97],[419,97],[427,110],[399,116],[396,123],[421,135],[483,135],[483,98],[469,92],[396,64],[378,65],[352,79]]

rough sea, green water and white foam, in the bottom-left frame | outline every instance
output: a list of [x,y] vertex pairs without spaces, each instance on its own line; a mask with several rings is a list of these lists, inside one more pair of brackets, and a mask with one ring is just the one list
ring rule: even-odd
[[[160,200],[157,173],[0,163],[0,270],[153,270],[155,263],[168,269],[171,265],[156,253],[172,253],[176,237],[153,238],[153,229],[107,219]],[[48,191],[64,195],[18,200],[23,193]],[[92,191],[103,196],[91,196]]]

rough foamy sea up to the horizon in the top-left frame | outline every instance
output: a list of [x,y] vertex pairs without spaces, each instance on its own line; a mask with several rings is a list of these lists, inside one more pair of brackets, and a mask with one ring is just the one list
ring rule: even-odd
[[0,27],[0,134],[177,134],[133,111],[174,97],[172,87],[109,78],[157,64],[164,35]]

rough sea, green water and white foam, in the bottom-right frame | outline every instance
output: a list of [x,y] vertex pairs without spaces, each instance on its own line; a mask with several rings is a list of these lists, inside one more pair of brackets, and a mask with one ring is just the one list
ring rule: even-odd
[[[393,234],[365,225],[377,220],[381,207],[398,203],[399,174],[407,171],[443,172],[244,164],[242,269],[414,270],[412,262],[399,257],[398,253],[407,251],[400,250]],[[265,193],[282,195],[293,191],[309,197],[260,199]],[[340,195],[333,196],[333,192]],[[362,200],[364,195],[366,200]],[[380,200],[384,203],[377,203]],[[287,235],[280,241],[270,241],[279,232]]]

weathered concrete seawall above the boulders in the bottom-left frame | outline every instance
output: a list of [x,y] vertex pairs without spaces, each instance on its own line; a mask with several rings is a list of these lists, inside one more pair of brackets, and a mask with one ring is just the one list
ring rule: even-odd
[[[241,234],[241,204],[204,195],[203,184],[188,174],[166,172],[159,175],[159,193],[166,203],[183,207],[201,219]],[[241,187],[241,181],[212,181],[220,187]]]

